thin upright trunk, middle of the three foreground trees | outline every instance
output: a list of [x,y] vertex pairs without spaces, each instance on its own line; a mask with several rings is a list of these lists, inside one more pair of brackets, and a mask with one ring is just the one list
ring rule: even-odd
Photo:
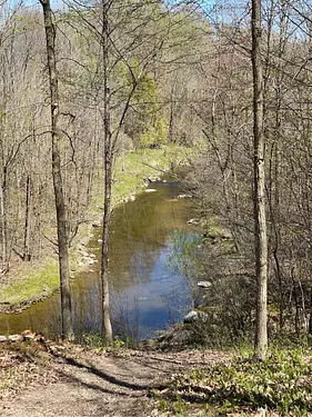
[[103,332],[105,341],[112,342],[112,326],[110,319],[110,290],[108,280],[109,262],[109,228],[111,216],[111,181],[112,181],[112,132],[111,132],[111,109],[110,109],[110,82],[109,82],[109,1],[102,1],[103,22],[102,22],[102,53],[103,53],[103,82],[104,82],[104,215],[103,215],[103,235],[102,235],[102,311],[103,311]]

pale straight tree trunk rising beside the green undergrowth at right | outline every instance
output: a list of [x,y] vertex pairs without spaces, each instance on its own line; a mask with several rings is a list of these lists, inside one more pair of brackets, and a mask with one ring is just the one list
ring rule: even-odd
[[261,0],[252,0],[253,148],[254,148],[254,246],[256,277],[255,356],[268,350],[268,238],[264,189],[263,76],[261,62]]

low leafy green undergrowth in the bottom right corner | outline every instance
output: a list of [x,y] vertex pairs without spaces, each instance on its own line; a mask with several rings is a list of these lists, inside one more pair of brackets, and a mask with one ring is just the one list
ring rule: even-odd
[[312,411],[310,355],[292,349],[274,351],[263,361],[235,358],[177,375],[154,394],[160,408],[165,404],[174,410],[177,404],[180,409],[182,403],[184,408],[195,404],[208,416],[250,415],[259,409],[266,416],[308,416]]

